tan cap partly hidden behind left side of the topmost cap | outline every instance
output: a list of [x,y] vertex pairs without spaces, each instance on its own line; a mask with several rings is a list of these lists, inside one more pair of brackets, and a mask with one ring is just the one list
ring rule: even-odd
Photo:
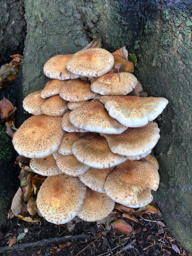
[[67,61],[73,54],[56,55],[49,59],[44,65],[44,74],[52,79],[76,79],[79,76],[72,74],[66,68]]

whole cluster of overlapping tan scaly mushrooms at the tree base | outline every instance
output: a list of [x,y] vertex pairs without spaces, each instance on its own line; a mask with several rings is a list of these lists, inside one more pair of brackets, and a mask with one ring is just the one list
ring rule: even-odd
[[153,120],[168,100],[127,95],[138,80],[113,65],[113,54],[101,48],[54,56],[44,65],[51,80],[23,101],[33,116],[13,145],[47,176],[36,199],[47,221],[97,221],[115,202],[149,204],[159,186],[159,164],[150,155],[160,137]]

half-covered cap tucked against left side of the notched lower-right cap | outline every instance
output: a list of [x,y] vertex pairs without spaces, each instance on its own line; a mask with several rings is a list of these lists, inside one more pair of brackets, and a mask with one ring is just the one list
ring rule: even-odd
[[[115,168],[115,167],[114,167]],[[114,169],[106,168],[106,169],[97,169],[90,168],[86,173],[79,176],[79,179],[90,189],[94,191],[98,191],[100,193],[106,193],[104,191],[104,184],[109,173]]]

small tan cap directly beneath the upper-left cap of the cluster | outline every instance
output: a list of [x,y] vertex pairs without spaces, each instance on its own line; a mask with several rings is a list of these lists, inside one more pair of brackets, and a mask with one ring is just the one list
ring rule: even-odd
[[60,94],[60,88],[65,84],[65,81],[61,81],[58,79],[52,79],[51,81],[45,84],[44,89],[40,93],[40,97],[48,98],[53,95]]

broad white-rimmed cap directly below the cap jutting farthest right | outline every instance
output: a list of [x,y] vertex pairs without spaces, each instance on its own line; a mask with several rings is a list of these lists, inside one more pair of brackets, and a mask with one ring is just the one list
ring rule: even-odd
[[[160,138],[159,128],[156,123],[136,128],[128,128],[121,134],[100,134],[108,141],[109,148],[115,154],[128,157],[145,157],[150,154]],[[138,159],[139,160],[139,159]]]

